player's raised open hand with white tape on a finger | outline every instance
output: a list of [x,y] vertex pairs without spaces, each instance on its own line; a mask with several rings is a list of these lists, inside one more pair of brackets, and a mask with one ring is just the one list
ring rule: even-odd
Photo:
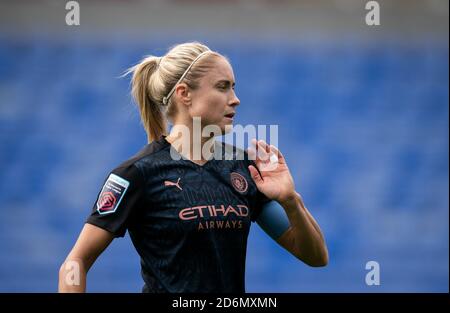
[[295,198],[294,180],[283,154],[264,140],[252,139],[252,144],[255,148],[249,148],[247,152],[261,174],[253,165],[248,169],[258,190],[279,203]]

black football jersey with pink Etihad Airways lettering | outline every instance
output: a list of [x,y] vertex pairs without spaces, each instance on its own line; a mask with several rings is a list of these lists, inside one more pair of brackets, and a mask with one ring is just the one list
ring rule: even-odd
[[269,201],[250,164],[245,151],[217,141],[198,165],[162,136],[107,175],[87,223],[116,237],[128,230],[144,291],[245,292],[251,221]]

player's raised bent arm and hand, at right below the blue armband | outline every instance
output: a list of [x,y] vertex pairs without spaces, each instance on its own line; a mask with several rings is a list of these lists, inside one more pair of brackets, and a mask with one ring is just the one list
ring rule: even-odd
[[[258,170],[249,166],[250,174],[260,192],[278,202],[269,212],[262,214],[258,224],[267,230],[271,223],[283,225],[289,220],[289,227],[280,236],[274,238],[281,246],[310,266],[325,266],[328,263],[328,250],[319,225],[314,220],[303,200],[295,191],[294,181],[284,156],[272,145],[263,140],[253,140],[256,149],[249,149],[249,155],[255,159]],[[273,202],[273,201],[272,201]],[[279,208],[279,207],[282,207]],[[284,212],[283,212],[284,210]],[[286,225],[287,222],[284,222]]]

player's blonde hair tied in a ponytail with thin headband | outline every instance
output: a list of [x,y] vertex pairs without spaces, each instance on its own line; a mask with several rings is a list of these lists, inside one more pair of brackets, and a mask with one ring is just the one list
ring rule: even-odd
[[[210,53],[192,64],[201,53],[207,51]],[[167,134],[167,120],[177,112],[173,96],[167,97],[171,90],[181,81],[190,89],[197,89],[200,78],[213,66],[211,56],[223,57],[202,43],[188,42],[173,46],[162,57],[146,56],[126,71],[125,74],[133,73],[131,94],[139,107],[149,143]],[[165,97],[166,104],[163,103]]]

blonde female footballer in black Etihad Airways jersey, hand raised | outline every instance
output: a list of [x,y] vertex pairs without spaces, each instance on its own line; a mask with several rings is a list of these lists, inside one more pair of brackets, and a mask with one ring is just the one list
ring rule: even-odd
[[[319,225],[276,147],[253,139],[247,151],[232,146],[230,158],[230,145],[194,131],[200,121],[201,128],[215,125],[225,134],[233,123],[239,99],[226,57],[184,43],[129,72],[149,143],[106,177],[60,268],[60,292],[84,292],[89,268],[127,230],[141,258],[143,292],[245,292],[247,237],[255,221],[304,263],[328,263]],[[207,146],[212,157],[195,157],[195,144]],[[67,279],[74,268],[75,283]]]

